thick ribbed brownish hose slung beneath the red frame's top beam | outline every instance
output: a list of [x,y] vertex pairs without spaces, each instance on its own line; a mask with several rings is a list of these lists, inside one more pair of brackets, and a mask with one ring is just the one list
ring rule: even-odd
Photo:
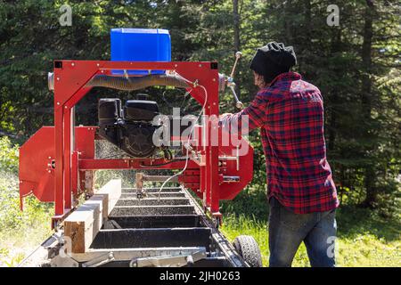
[[86,86],[108,87],[118,90],[132,91],[143,89],[153,85],[190,87],[183,78],[175,75],[148,75],[144,77],[112,77],[98,75],[93,77]]

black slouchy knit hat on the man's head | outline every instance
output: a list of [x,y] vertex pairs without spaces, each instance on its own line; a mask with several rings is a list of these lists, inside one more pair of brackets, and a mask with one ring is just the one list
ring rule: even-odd
[[279,74],[290,71],[296,64],[297,57],[292,46],[270,42],[258,48],[250,61],[250,69],[265,77],[266,83],[269,83]]

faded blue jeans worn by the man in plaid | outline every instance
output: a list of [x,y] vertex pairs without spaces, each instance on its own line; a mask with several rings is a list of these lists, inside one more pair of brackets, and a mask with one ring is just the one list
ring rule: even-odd
[[295,214],[272,197],[269,216],[269,266],[290,267],[300,243],[304,241],[311,266],[334,267],[336,232],[335,209]]

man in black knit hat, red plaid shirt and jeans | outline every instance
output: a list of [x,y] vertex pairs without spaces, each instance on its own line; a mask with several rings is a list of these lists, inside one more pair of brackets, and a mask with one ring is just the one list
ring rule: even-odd
[[[291,46],[258,49],[250,63],[260,88],[250,106],[220,118],[249,130],[260,127],[266,156],[270,266],[291,266],[304,241],[312,266],[334,266],[335,209],[339,206],[323,137],[323,97],[291,72]],[[245,122],[245,121],[244,121]]]

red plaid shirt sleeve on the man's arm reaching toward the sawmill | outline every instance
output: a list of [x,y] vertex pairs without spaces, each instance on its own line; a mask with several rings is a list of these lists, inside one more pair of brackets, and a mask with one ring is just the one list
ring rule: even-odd
[[221,118],[219,125],[230,134],[248,134],[266,124],[266,96],[257,94],[250,106],[233,115]]

